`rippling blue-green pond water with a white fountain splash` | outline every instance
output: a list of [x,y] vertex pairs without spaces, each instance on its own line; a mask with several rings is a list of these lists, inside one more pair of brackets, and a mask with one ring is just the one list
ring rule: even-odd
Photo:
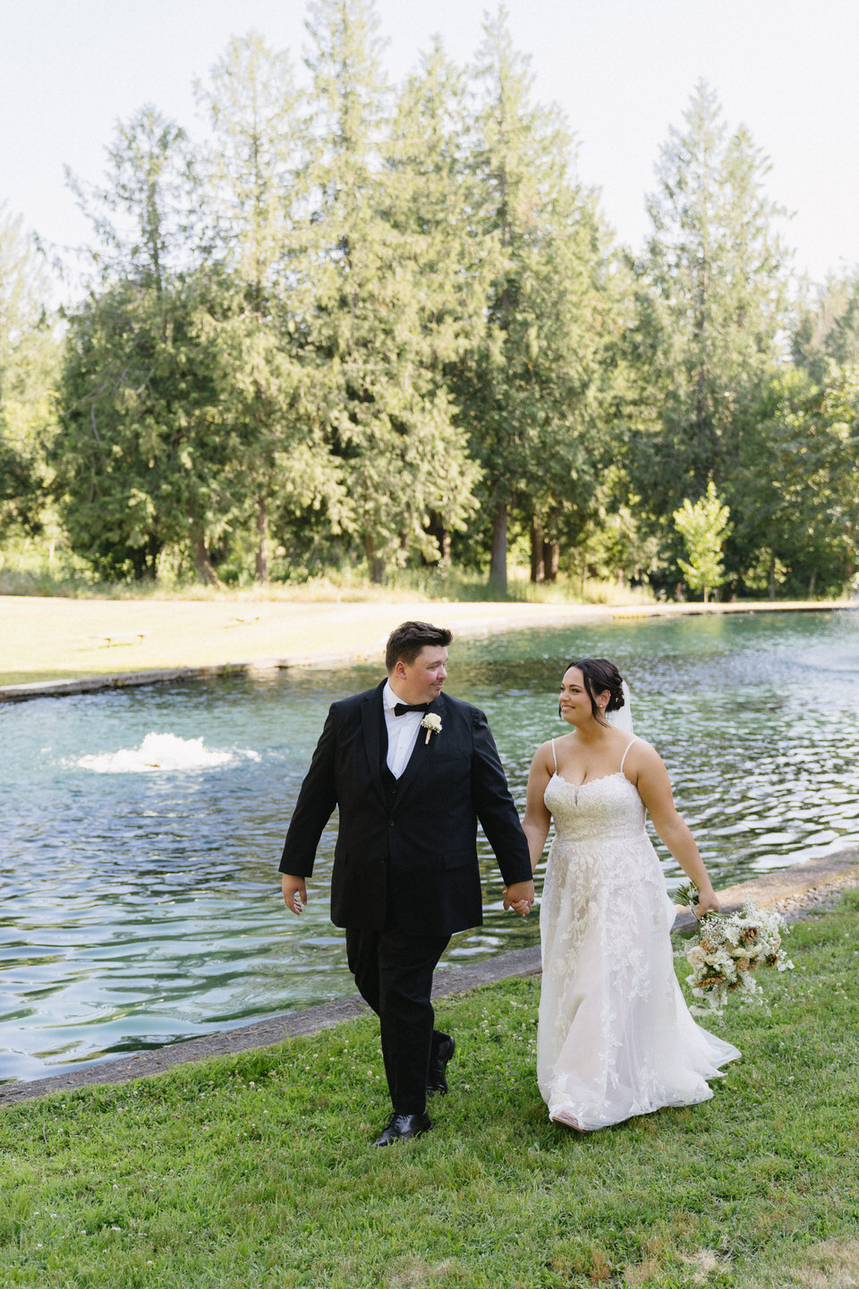
[[[455,642],[449,691],[489,715],[524,803],[564,661],[614,659],[716,884],[859,842],[859,619],[649,619]],[[373,668],[0,708],[0,1080],[160,1047],[353,991],[327,918],[335,825],[300,919],[277,861],[332,699]],[[537,941],[501,909],[446,962]],[[677,869],[666,857],[675,884]]]

